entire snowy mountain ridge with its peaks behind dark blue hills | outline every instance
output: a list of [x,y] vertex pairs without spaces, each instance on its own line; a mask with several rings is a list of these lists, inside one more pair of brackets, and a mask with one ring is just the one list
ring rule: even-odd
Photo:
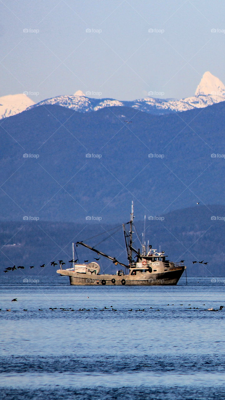
[[204,108],[223,101],[225,101],[223,82],[207,71],[197,86],[195,96],[181,100],[146,97],[133,101],[120,101],[111,98],[89,98],[81,90],[77,90],[73,95],[56,96],[35,104],[26,94],[15,94],[0,97],[0,119],[46,104],[56,104],[83,113],[104,107],[121,106],[160,115]]

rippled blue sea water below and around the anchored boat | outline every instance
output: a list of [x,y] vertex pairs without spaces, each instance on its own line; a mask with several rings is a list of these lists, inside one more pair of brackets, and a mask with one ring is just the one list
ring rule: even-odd
[[225,399],[225,279],[29,278],[0,278],[1,399]]

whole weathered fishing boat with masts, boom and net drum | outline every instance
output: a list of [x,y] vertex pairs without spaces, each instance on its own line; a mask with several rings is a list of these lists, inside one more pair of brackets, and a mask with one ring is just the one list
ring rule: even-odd
[[[74,262],[74,244],[73,244],[73,266],[71,268],[60,269],[56,272],[63,276],[69,276],[70,285],[176,285],[186,266],[183,262],[172,262],[167,260],[164,251],[153,249],[149,242],[143,241],[138,250],[133,247],[133,229],[134,229],[134,210],[133,202],[131,207],[131,219],[123,224],[123,233],[125,246],[127,250],[128,265],[118,261],[115,257],[89,246],[84,242],[76,242],[76,246],[84,246],[106,257],[115,265],[121,265],[123,268],[117,270],[116,274],[101,274],[100,266],[97,262],[88,264],[79,264]],[[127,228],[128,226],[128,228]]]

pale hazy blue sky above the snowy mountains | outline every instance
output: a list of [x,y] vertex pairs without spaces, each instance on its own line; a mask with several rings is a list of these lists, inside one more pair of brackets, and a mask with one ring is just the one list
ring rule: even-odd
[[224,1],[3,0],[0,15],[0,96],[184,98],[207,70],[225,82]]

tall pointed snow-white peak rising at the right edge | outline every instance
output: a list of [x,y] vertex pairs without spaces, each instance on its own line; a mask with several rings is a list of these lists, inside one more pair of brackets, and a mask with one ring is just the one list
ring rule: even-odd
[[212,75],[209,71],[205,72],[199,83],[195,96],[201,95],[225,96],[225,86],[219,78]]

